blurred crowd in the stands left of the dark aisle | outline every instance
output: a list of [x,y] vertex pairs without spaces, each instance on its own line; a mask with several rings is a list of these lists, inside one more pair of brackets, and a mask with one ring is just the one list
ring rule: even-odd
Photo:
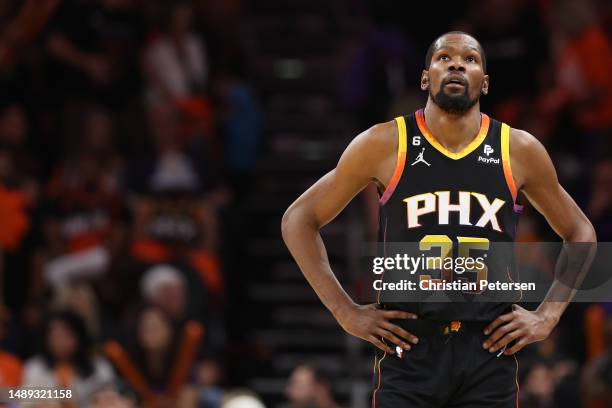
[[240,18],[226,1],[0,1],[0,387],[227,399],[219,241],[261,135]]

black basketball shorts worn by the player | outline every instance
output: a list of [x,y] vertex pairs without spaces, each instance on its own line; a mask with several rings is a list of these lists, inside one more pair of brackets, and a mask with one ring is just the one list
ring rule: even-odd
[[518,360],[483,349],[485,323],[394,323],[419,342],[401,357],[376,351],[372,408],[518,407]]

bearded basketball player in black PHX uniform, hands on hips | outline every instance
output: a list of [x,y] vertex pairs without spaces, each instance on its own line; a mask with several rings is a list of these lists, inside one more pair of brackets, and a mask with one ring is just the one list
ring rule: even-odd
[[380,350],[374,407],[516,407],[513,355],[545,339],[567,301],[545,299],[535,311],[511,303],[359,305],[335,278],[319,234],[373,182],[387,242],[427,235],[513,242],[519,191],[564,241],[595,241],[540,142],[480,112],[489,76],[476,39],[462,32],[436,39],[421,89],[429,94],[424,109],[358,135],[336,168],[289,207],[283,238],[340,326]]

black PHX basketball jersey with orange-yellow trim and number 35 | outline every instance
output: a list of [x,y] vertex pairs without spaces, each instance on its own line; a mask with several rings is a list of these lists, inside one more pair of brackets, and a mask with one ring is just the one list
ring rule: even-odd
[[[379,242],[419,243],[438,253],[453,248],[455,255],[465,243],[488,249],[492,242],[513,242],[521,206],[510,168],[508,125],[482,114],[478,135],[454,153],[427,129],[422,109],[395,120],[397,165],[380,192]],[[494,260],[489,258],[489,270],[510,281],[512,259],[510,249],[498,252]],[[478,295],[462,299],[397,303],[383,296],[379,302],[419,318],[463,321],[489,321],[510,306],[508,301],[470,301]]]

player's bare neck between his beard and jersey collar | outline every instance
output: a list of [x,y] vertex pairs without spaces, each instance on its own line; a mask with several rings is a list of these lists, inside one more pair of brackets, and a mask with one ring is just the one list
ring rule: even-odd
[[462,114],[451,114],[440,109],[431,97],[424,110],[425,124],[436,140],[451,152],[459,152],[478,135],[480,104],[476,103]]

